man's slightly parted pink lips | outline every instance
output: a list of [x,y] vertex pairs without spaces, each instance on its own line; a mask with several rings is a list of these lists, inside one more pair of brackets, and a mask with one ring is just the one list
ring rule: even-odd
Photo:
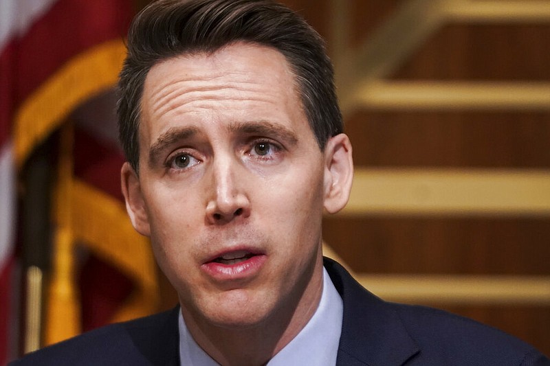
[[265,253],[236,249],[220,253],[202,264],[202,270],[217,282],[252,279],[267,260]]

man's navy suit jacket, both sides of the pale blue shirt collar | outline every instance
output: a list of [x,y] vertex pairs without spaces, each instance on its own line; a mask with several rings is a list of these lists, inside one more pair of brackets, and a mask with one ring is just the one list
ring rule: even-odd
[[[548,358],[513,336],[441,310],[388,303],[333,260],[325,258],[325,268],[344,301],[338,366],[550,366]],[[179,307],[108,325],[12,365],[179,366],[178,312]]]

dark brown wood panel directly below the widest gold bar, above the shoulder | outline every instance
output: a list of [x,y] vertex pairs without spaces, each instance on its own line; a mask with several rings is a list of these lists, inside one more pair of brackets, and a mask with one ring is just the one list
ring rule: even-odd
[[338,218],[323,238],[355,272],[548,275],[545,218]]

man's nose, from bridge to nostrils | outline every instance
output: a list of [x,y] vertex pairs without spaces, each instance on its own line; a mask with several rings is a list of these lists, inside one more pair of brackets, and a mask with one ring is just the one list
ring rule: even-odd
[[245,189],[239,163],[230,159],[217,159],[211,166],[209,198],[206,219],[212,225],[223,225],[250,216],[250,201]]

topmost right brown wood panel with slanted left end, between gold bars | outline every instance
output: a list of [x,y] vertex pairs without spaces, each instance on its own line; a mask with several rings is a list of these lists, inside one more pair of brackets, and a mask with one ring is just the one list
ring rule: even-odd
[[395,79],[550,80],[550,23],[448,24]]

